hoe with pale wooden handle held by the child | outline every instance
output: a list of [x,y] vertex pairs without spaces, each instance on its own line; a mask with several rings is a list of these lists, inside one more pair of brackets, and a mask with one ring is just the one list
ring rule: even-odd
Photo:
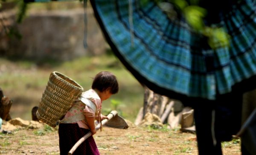
[[[107,126],[107,127],[113,127],[117,129],[127,129],[128,124],[126,121],[118,116],[118,113],[116,110],[111,111],[111,113],[108,114],[108,119],[104,119],[102,121],[102,126]],[[99,130],[100,124],[96,126],[96,130]],[[76,144],[70,149],[68,152],[68,155],[72,155],[73,152],[79,147],[80,144],[82,144],[88,137],[92,135],[92,132],[88,132],[86,135],[84,135],[82,138],[79,139],[79,141],[76,142]]]

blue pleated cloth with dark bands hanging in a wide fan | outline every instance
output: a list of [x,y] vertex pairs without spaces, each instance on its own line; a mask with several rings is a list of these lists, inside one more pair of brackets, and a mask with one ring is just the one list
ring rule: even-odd
[[163,7],[167,3],[90,2],[116,56],[154,92],[173,99],[215,100],[233,90],[256,88],[255,0],[232,5],[214,1],[214,9],[206,7],[203,31],[193,28],[182,13],[170,17]]

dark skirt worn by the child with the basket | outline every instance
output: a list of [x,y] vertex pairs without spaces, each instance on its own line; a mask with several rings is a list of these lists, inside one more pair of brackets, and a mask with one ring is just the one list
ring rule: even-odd
[[[59,124],[60,155],[67,155],[77,141],[90,130],[80,128],[78,124]],[[73,153],[73,155],[99,155],[99,150],[93,136],[87,138]]]

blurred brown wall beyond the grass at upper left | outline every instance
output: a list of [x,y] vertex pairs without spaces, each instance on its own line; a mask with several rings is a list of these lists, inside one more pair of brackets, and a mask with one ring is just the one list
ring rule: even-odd
[[18,25],[15,23],[15,15],[15,11],[6,12],[5,25],[15,25],[22,39],[8,38],[1,33],[1,54],[63,61],[79,56],[102,54],[107,48],[91,8],[87,9],[87,48],[83,45],[83,8],[32,11]]

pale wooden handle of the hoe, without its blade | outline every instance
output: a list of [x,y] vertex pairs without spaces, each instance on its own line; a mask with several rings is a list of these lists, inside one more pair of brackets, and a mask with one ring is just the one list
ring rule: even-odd
[[[108,122],[108,120],[110,120],[111,118],[113,118],[114,116],[117,115],[117,111],[113,110],[111,111],[111,113],[108,114],[108,119],[104,119],[102,121],[102,125],[106,124]],[[96,130],[99,130],[100,128],[100,124],[98,124],[96,127]],[[88,132],[86,135],[84,135],[82,138],[79,139],[79,141],[76,142],[76,144],[70,149],[70,151],[68,152],[68,155],[72,155],[76,149],[88,138],[92,135],[92,132]]]

